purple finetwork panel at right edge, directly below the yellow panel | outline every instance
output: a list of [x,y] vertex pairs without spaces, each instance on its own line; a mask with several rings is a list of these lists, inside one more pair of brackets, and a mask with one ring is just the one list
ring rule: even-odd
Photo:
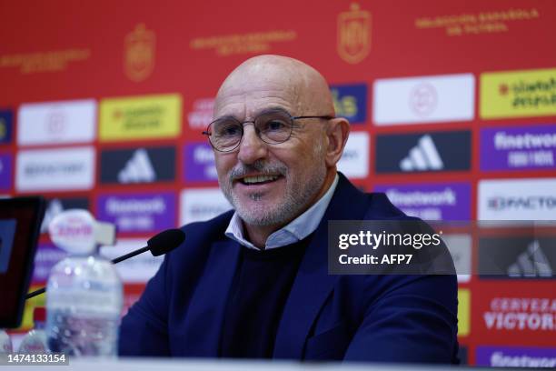
[[556,125],[481,130],[481,169],[556,168]]

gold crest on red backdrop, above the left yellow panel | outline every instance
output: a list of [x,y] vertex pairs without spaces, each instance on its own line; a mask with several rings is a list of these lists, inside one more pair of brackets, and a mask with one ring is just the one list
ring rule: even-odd
[[155,41],[154,32],[144,24],[125,36],[124,72],[130,80],[140,82],[153,73]]

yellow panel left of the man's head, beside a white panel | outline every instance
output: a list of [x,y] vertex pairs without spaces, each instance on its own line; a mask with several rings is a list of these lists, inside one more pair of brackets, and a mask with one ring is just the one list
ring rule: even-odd
[[103,99],[101,141],[173,138],[182,129],[182,96],[144,95]]

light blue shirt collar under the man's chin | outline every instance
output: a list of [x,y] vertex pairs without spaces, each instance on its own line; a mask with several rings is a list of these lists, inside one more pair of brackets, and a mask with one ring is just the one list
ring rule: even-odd
[[[303,240],[306,236],[311,235],[321,223],[321,219],[323,219],[324,212],[326,211],[328,204],[330,204],[330,200],[332,199],[337,185],[338,175],[336,174],[332,186],[328,188],[324,196],[322,196],[321,199],[318,200],[313,206],[309,207],[301,216],[297,216],[293,219],[290,224],[283,226],[283,228],[278,229],[271,236],[268,236],[264,249],[268,250],[271,248],[292,245]],[[242,219],[237,215],[237,212],[233,213],[230,224],[226,228],[224,234],[238,242],[240,245],[260,250],[243,237]]]

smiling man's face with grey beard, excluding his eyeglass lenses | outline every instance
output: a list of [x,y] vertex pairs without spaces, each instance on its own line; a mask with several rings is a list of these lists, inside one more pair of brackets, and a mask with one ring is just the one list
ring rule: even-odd
[[[269,109],[293,116],[323,114],[300,112],[300,102],[303,97],[282,81],[247,79],[221,90],[214,118],[229,115],[251,121]],[[323,140],[319,119],[294,120],[291,137],[278,145],[264,143],[253,124],[244,124],[238,148],[214,152],[223,194],[245,223],[283,226],[313,204],[326,175]]]

